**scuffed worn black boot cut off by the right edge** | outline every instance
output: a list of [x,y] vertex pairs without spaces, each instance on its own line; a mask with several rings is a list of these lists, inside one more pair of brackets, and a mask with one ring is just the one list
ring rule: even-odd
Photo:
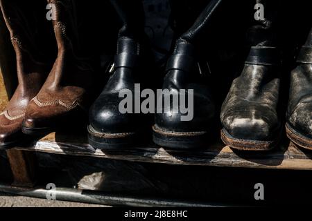
[[286,132],[297,145],[312,150],[312,30],[291,73]]

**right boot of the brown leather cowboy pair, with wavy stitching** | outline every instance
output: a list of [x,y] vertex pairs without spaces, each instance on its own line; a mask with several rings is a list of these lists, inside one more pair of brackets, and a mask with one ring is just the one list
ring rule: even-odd
[[82,116],[89,101],[87,92],[93,84],[93,68],[82,50],[85,44],[80,43],[75,2],[48,0],[48,3],[56,8],[53,28],[58,57],[44,86],[26,110],[22,130],[28,135],[48,133],[65,117],[68,120],[77,113]]

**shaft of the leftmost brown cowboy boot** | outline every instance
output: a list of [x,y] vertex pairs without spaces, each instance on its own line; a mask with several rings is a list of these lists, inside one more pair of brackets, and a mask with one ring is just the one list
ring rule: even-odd
[[53,32],[47,29],[45,4],[27,1],[0,1],[1,12],[10,32],[17,61],[17,94],[21,97],[37,91],[53,62]]

